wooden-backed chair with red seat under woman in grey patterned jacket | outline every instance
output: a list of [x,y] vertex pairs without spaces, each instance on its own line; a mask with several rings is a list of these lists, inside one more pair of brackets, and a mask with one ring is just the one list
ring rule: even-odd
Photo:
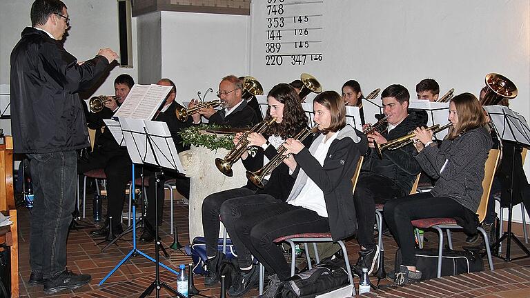
[[[491,190],[491,184],[493,183],[493,176],[495,175],[495,169],[499,162],[499,150],[491,149],[489,150],[488,159],[484,165],[484,179],[482,179],[482,198],[480,199],[480,205],[477,210],[478,220],[480,222],[484,221],[486,217],[486,211],[488,208],[489,192]],[[462,226],[456,224],[454,218],[431,218],[431,219],[417,219],[412,221],[412,225],[416,228],[433,228],[438,231],[439,242],[438,242],[438,272],[437,277],[442,276],[442,252],[444,246],[444,233],[443,229],[447,231],[447,242],[449,248],[453,249],[453,243],[451,241],[451,229],[462,229]],[[489,270],[493,270],[493,261],[491,259],[491,251],[489,248],[489,240],[486,235],[486,232],[482,227],[478,227],[478,231],[484,237],[484,245],[486,246],[486,252],[488,255]],[[419,239],[419,235],[418,239]]]

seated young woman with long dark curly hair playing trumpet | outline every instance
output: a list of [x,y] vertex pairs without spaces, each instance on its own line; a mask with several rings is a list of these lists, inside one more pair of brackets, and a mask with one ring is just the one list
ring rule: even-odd
[[[256,132],[248,135],[247,139],[250,141],[248,147],[256,148],[257,152],[255,156],[249,155],[248,152],[244,152],[242,155],[242,161],[246,170],[252,172],[262,168],[264,155],[268,159],[273,159],[277,155],[277,147],[282,145],[287,138],[295,136],[297,132],[307,127],[307,117],[302,109],[297,92],[288,84],[280,83],[274,86],[268,92],[267,101],[268,109],[265,119],[268,121],[275,118],[275,123],[269,126],[263,135]],[[241,136],[242,133],[235,136],[235,144],[239,142]],[[222,203],[228,199],[253,195],[254,193],[266,194],[279,201],[285,201],[295,182],[295,179],[289,175],[288,168],[285,165],[273,170],[271,177],[267,178],[268,183],[265,184],[263,190],[259,189],[256,191],[253,183],[248,181],[247,185],[242,188],[216,192],[204,199],[202,204],[202,226],[206,239],[206,255],[208,255],[208,260],[206,261],[208,273],[204,279],[204,286],[214,286],[219,281],[215,269],[219,261],[221,261],[221,256],[217,251],[217,237],[220,227],[219,210]],[[240,242],[235,237],[230,235],[230,238],[237,250],[237,261],[239,262],[241,275],[244,275],[253,269],[251,254],[246,250],[244,245],[240,245]],[[257,273],[257,270],[253,272]],[[236,293],[239,292],[238,289],[235,289]],[[233,288],[230,288],[228,292],[233,294]]]

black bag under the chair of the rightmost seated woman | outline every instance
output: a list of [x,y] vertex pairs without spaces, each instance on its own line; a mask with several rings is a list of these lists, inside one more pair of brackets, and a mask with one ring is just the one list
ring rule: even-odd
[[[416,268],[422,272],[422,280],[432,279],[438,272],[438,249],[418,249]],[[401,250],[395,252],[395,272],[399,272],[402,264]],[[482,257],[478,250],[444,250],[442,254],[442,276],[459,275],[462,273],[484,270]]]

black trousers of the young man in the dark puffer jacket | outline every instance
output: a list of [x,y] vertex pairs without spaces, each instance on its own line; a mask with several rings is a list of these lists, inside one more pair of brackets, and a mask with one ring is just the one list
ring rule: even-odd
[[375,248],[373,225],[375,224],[375,204],[406,195],[394,181],[373,172],[361,172],[353,202],[357,212],[357,241],[367,250]]

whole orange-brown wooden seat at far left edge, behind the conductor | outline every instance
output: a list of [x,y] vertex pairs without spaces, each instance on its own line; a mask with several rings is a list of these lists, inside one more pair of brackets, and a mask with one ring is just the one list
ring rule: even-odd
[[19,241],[13,196],[13,139],[10,136],[6,136],[0,145],[0,210],[8,213],[13,222],[0,228],[0,244],[10,246],[11,296],[19,297]]

